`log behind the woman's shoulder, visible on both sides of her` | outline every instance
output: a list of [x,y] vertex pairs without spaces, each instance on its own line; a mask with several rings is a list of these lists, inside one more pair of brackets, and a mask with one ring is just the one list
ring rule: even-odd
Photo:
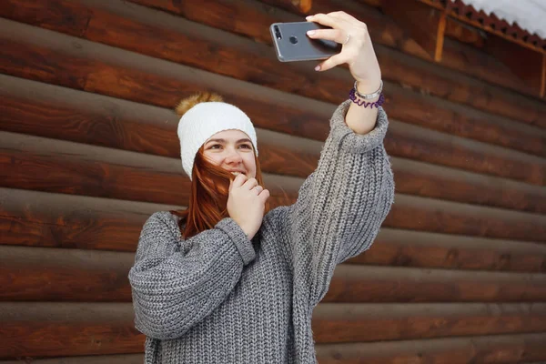
[[[0,188],[1,244],[131,251],[154,211],[177,207]],[[544,271],[543,245],[382,228],[349,262],[372,265]]]

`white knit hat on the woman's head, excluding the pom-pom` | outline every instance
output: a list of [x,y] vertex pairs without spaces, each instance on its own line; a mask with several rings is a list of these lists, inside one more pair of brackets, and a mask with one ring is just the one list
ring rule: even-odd
[[202,102],[180,117],[178,122],[180,157],[182,157],[182,168],[190,180],[197,151],[203,143],[220,131],[232,129],[247,134],[258,157],[256,130],[247,114],[237,106],[224,102]]

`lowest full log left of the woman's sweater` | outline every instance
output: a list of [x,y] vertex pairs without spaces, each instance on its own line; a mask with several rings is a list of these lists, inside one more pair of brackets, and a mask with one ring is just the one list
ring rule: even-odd
[[131,304],[0,304],[0,359],[144,351]]

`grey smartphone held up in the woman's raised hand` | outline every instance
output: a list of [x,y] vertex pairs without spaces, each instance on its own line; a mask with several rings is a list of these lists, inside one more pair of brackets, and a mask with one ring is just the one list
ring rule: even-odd
[[311,39],[308,30],[331,29],[313,22],[275,23],[269,26],[280,62],[326,59],[341,52],[341,45],[331,40]]

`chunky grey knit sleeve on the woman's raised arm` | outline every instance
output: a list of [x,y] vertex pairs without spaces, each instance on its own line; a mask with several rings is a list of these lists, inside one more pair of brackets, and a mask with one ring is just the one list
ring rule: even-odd
[[285,210],[296,289],[307,290],[312,307],[328,291],[336,265],[371,246],[394,200],[385,111],[379,108],[369,134],[357,135],[345,123],[349,103],[332,116],[319,166]]

